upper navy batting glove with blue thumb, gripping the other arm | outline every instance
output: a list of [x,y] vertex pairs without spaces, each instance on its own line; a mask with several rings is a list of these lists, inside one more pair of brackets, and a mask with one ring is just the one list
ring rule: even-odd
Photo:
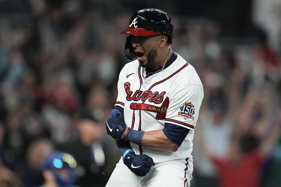
[[118,110],[112,110],[111,115],[112,117],[109,117],[105,124],[107,134],[114,139],[123,140],[125,132],[129,132],[131,129],[127,128],[125,121]]

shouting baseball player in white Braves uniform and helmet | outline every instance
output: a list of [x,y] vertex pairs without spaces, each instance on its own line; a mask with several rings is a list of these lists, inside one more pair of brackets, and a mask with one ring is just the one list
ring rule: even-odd
[[204,96],[191,64],[172,51],[173,23],[158,9],[131,16],[118,97],[106,123],[121,153],[107,187],[189,186],[192,140]]

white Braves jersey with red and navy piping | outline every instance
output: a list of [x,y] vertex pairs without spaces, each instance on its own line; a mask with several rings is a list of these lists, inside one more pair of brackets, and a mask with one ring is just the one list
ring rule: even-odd
[[127,127],[152,131],[163,129],[166,122],[190,131],[176,152],[157,151],[135,143],[131,143],[131,147],[136,154],[152,157],[155,163],[188,159],[192,164],[193,130],[204,96],[198,74],[178,54],[171,65],[147,79],[143,79],[142,71],[138,60],[134,60],[127,63],[119,75],[115,106],[124,108]]

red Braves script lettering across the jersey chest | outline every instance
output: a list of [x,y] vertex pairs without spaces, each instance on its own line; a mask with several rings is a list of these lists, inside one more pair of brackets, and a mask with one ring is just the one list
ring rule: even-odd
[[148,99],[149,102],[151,103],[155,103],[155,104],[159,104],[163,101],[163,98],[164,98],[164,95],[165,95],[165,91],[161,92],[159,94],[158,91],[155,91],[154,93],[152,91],[148,91],[148,90],[145,90],[145,91],[140,91],[140,90],[137,90],[135,91],[135,93],[133,93],[133,91],[130,91],[130,86],[131,84],[129,82],[126,82],[124,84],[124,88],[125,88],[125,91],[127,93],[127,97],[126,99],[128,101],[146,101]]

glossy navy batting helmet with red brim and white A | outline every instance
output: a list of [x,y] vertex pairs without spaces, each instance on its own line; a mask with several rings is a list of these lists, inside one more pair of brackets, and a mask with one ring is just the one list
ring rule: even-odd
[[[129,28],[121,32],[129,34],[125,42],[125,56],[133,60],[136,54],[131,45],[131,35],[151,36],[165,34],[167,42],[172,44],[174,25],[169,15],[159,9],[146,8],[133,13],[130,19]],[[120,33],[120,34],[121,34]]]

